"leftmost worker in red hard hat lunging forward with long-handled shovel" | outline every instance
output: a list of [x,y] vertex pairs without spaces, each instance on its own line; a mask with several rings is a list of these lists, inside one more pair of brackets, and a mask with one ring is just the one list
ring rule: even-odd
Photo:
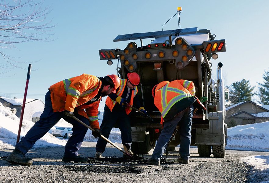
[[87,162],[88,157],[79,156],[77,151],[88,128],[72,117],[76,116],[90,125],[95,129],[92,135],[95,138],[99,137],[101,132],[97,115],[100,100],[103,96],[116,92],[119,86],[120,78],[114,74],[105,77],[82,74],[53,84],[45,95],[45,107],[40,120],[21,138],[6,160],[13,164],[31,165],[32,158],[25,157],[25,154],[63,118],[73,125],[73,134],[66,143],[62,161]]

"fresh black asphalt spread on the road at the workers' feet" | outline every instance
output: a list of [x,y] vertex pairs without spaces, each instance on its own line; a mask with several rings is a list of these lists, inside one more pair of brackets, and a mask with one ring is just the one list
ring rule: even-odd
[[[144,172],[144,168],[133,166],[133,165],[145,165],[147,164],[149,158],[140,158],[140,159],[128,159],[128,158],[113,158],[113,157],[104,157],[104,158],[92,158],[89,157],[88,163],[92,165],[83,165],[75,166],[69,165],[65,168],[70,169],[74,172],[94,172],[94,173],[115,173],[115,174],[141,174]],[[167,170],[167,164],[173,164],[176,162],[176,159],[161,159],[161,164],[163,170]],[[102,166],[98,164],[116,164],[117,166]],[[125,166],[121,166],[125,165]],[[127,166],[130,165],[130,166]],[[160,171],[156,169],[155,171]]]

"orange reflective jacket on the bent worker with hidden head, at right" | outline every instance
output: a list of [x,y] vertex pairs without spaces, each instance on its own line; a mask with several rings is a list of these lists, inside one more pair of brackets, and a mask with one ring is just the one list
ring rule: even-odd
[[172,119],[195,101],[206,109],[194,93],[195,87],[192,81],[181,79],[160,82],[155,89],[154,104],[161,112],[161,124],[163,121]]

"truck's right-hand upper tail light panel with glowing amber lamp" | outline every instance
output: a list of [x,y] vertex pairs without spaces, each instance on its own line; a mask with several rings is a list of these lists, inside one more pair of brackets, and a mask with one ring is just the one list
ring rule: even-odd
[[203,42],[203,49],[205,53],[225,52],[226,51],[225,39],[216,41],[205,41]]

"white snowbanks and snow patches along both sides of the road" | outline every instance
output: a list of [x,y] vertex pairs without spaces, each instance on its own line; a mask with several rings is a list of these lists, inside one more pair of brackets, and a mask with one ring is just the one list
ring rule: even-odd
[[[102,116],[103,113],[100,112],[99,124],[102,122]],[[20,119],[12,113],[10,108],[4,107],[0,103],[0,150],[14,148],[19,122]],[[33,125],[33,122],[23,120],[21,136],[24,136]],[[63,125],[56,124],[52,129],[59,126]],[[55,138],[51,135],[51,130],[43,138],[38,140],[33,148],[66,144],[64,139]],[[88,130],[84,140],[96,142],[97,138],[94,138],[91,135],[91,131]],[[112,142],[121,142],[119,129],[113,128],[109,140]],[[228,128],[226,149],[269,152],[269,121]],[[262,178],[261,182],[269,182],[268,176],[264,176],[269,174],[269,156],[250,156],[243,158],[242,161],[254,167],[256,171],[253,174],[260,174]]]

